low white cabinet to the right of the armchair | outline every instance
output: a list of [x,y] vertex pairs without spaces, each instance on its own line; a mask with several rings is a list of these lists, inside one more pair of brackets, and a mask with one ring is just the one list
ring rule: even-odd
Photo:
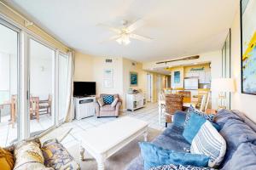
[[146,105],[146,94],[126,94],[126,108],[130,111],[143,108]]

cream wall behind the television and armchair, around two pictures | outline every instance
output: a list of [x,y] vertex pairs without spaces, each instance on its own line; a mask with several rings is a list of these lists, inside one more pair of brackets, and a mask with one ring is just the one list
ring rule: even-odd
[[[112,59],[112,63],[106,63],[105,59]],[[143,64],[125,59],[122,57],[97,57],[87,54],[75,54],[75,72],[74,80],[82,82],[96,82],[96,94],[119,94],[123,100],[123,109],[125,109],[125,94],[129,88],[141,89],[147,91],[147,72],[143,71]],[[136,63],[136,65],[132,65]],[[113,88],[104,88],[103,86],[103,70],[113,70]],[[138,86],[130,86],[130,72],[138,73]],[[85,73],[86,72],[86,73]],[[154,74],[155,76],[157,74]],[[156,88],[156,85],[154,85]],[[154,90],[156,92],[156,90]],[[154,101],[156,94],[154,93]]]

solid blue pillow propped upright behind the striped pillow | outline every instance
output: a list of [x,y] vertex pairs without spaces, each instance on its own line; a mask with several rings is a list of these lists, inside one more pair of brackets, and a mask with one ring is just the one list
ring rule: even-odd
[[201,126],[206,121],[207,120],[203,116],[199,116],[194,112],[191,113],[189,122],[185,125],[183,130],[183,137],[189,142],[189,144],[192,143],[192,140],[195,138],[196,133],[198,133]]

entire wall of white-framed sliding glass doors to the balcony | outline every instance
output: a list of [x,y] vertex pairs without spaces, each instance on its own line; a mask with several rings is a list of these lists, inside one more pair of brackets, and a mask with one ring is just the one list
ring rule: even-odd
[[69,62],[67,54],[0,16],[0,147],[64,120]]

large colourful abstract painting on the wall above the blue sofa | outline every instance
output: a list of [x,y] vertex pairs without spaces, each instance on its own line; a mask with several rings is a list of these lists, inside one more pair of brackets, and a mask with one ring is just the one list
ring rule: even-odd
[[256,1],[241,0],[241,93],[256,95]]

